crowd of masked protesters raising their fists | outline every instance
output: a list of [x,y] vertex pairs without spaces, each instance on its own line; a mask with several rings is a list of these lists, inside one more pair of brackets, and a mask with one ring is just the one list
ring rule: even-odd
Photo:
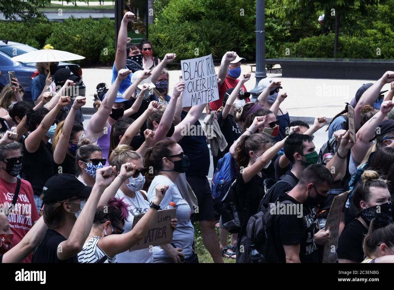
[[[160,60],[149,40],[128,43],[134,18],[131,12],[123,17],[112,85],[97,84],[97,112],[86,127],[85,97],[68,93],[78,78],[56,63],[37,63],[33,103],[23,101],[17,75],[1,91],[0,262],[196,263],[198,221],[214,262],[252,262],[257,253],[263,262],[318,263],[331,240],[331,204],[344,192],[338,261],[394,261],[393,71],[363,84],[349,100],[356,142],[346,106],[316,152],[313,134],[327,118],[316,116],[312,126],[290,122],[286,84],[277,79],[261,80],[252,101],[245,88],[251,74],[240,68],[244,58],[226,52],[217,71],[219,99],[204,120],[216,128],[211,140],[184,134],[185,127],[202,126],[206,106],[182,107],[182,80],[169,95],[166,65],[176,55]],[[53,79],[56,94],[48,90]],[[216,182],[227,184],[226,196],[217,195]],[[224,205],[230,198],[235,227]],[[169,204],[176,208],[172,243],[130,250]],[[272,204],[291,204],[301,214],[273,215],[256,247],[250,222]]]

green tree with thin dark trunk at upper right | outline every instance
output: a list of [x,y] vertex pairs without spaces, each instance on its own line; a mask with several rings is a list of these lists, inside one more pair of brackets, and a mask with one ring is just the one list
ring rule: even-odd
[[270,9],[268,14],[275,14],[284,21],[288,21],[289,17],[296,17],[297,22],[303,22],[310,17],[316,17],[320,11],[323,11],[325,25],[335,26],[335,57],[338,54],[340,20],[355,13],[366,15],[367,6],[377,4],[379,4],[379,0],[323,0],[321,2],[316,0],[283,0],[282,5]]

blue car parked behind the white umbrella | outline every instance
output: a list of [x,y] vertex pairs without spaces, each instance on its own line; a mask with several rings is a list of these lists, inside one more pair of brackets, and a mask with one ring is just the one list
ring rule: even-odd
[[[0,40],[0,71],[2,76],[0,77],[0,92],[9,84],[9,71],[15,71],[19,83],[25,90],[23,100],[32,102],[32,92],[30,90],[30,84],[32,79],[39,75],[35,68],[35,62],[15,62],[11,60],[14,56],[24,54],[31,51],[36,51],[34,47],[19,42]],[[85,96],[85,84],[82,82],[82,69],[78,64],[69,64],[67,62],[59,62],[59,68],[65,67],[70,69],[76,76],[81,78],[77,84],[79,86],[79,95]]]

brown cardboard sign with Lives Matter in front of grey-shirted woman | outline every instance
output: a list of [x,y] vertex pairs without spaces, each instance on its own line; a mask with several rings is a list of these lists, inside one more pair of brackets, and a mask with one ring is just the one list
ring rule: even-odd
[[[149,248],[150,246],[158,246],[169,244],[172,242],[173,228],[171,228],[171,219],[175,219],[177,209],[158,210],[154,221],[154,225],[149,229],[147,234],[137,245],[134,245],[129,251]],[[143,217],[145,213],[134,216],[133,228],[136,223]]]

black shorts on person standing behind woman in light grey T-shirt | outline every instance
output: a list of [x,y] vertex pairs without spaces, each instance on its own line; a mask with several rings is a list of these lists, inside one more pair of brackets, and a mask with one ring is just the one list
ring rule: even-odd
[[186,176],[186,180],[198,201],[198,208],[191,215],[191,222],[214,220],[214,198],[208,179],[205,176]]

